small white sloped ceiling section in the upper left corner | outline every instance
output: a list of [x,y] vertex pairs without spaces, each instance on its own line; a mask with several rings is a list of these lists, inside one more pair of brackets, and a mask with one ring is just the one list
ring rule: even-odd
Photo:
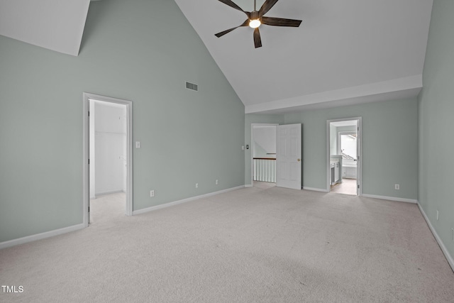
[[0,0],[0,35],[79,55],[90,0]]

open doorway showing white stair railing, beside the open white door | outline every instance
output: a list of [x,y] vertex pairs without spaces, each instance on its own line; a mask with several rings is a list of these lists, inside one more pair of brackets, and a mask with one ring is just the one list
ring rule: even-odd
[[251,184],[254,187],[276,186],[276,126],[277,124],[252,124]]

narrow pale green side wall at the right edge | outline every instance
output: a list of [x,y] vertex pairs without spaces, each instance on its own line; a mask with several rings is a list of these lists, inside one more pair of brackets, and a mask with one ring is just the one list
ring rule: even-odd
[[419,204],[451,256],[454,256],[453,16],[454,1],[433,1],[423,90],[419,94]]

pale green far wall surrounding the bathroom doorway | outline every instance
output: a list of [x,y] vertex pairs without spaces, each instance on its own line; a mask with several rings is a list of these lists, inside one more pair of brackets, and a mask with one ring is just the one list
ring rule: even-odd
[[[304,187],[326,189],[326,121],[358,116],[362,117],[362,193],[416,199],[416,98],[286,114],[286,124],[304,126]],[[400,184],[401,189],[395,190],[394,184]]]

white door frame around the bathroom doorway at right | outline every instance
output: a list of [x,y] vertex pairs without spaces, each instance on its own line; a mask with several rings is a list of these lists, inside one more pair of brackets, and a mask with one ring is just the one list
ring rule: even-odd
[[358,196],[362,196],[362,117],[353,117],[353,118],[343,118],[343,119],[333,119],[326,121],[326,191],[331,191],[331,167],[330,163],[330,131],[329,126],[331,122],[338,122],[338,121],[350,121],[356,120],[358,121],[358,176],[357,176],[357,184],[358,186]]

